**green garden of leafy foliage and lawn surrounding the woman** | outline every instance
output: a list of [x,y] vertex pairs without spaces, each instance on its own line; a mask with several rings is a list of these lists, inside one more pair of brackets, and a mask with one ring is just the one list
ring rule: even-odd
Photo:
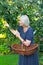
[[34,43],[39,44],[39,64],[43,65],[43,0],[0,0],[0,65],[17,65],[18,55],[11,51],[12,44],[21,41],[8,27],[18,29],[19,18],[26,14],[34,30]]

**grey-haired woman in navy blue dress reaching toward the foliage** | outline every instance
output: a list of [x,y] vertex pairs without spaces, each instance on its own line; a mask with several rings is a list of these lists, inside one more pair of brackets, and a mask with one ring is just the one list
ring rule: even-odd
[[[33,29],[30,27],[30,21],[27,15],[22,15],[19,21],[18,31],[10,29],[10,31],[21,40],[21,44],[29,46],[33,44]],[[8,24],[5,24],[9,27]],[[37,51],[32,55],[19,55],[18,65],[39,65]]]

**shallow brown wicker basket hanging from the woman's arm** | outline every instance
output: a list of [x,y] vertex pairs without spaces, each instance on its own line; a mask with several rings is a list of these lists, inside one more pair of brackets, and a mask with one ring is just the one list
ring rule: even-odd
[[31,44],[30,46],[25,46],[22,44],[14,44],[11,46],[11,48],[16,54],[31,55],[37,50],[38,44]]

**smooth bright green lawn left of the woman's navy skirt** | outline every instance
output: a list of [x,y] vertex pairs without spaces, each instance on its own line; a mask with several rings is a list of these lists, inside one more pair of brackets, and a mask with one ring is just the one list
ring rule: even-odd
[[17,65],[18,63],[18,55],[6,55],[0,56],[0,65]]

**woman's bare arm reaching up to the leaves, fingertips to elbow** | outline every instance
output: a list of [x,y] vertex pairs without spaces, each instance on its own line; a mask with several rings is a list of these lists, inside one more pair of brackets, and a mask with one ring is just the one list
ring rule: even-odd
[[14,35],[16,35],[16,37],[18,37],[24,45],[26,45],[26,46],[29,46],[29,45],[30,45],[31,41],[30,41],[30,40],[26,40],[26,41],[25,41],[25,40],[20,36],[20,33],[19,33],[17,30],[10,29],[10,26],[9,26],[8,23],[5,23],[5,26],[7,26],[7,27],[9,28],[9,30],[10,30]]

